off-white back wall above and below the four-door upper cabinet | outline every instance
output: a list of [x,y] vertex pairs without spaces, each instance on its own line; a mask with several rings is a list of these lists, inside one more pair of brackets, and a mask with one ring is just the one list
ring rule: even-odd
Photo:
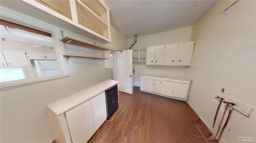
[[[193,26],[174,29],[161,33],[137,37],[132,49],[146,49],[148,46],[165,45],[190,41]],[[134,42],[134,38],[127,40],[127,48]],[[135,86],[140,86],[140,75],[159,75],[184,78],[186,66],[146,66],[145,63],[135,63]]]

